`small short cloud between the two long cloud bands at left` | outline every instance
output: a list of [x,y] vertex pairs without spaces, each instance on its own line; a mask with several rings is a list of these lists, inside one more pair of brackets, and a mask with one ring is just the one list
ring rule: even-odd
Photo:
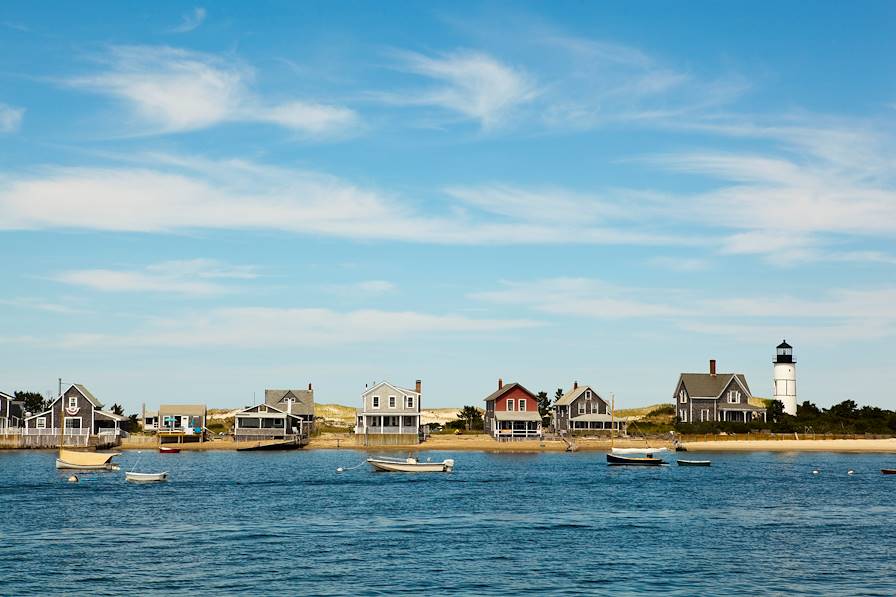
[[70,270],[58,273],[52,279],[103,292],[211,295],[230,290],[215,280],[255,277],[255,268],[251,266],[228,266],[210,259],[191,259],[156,263],[143,270]]

